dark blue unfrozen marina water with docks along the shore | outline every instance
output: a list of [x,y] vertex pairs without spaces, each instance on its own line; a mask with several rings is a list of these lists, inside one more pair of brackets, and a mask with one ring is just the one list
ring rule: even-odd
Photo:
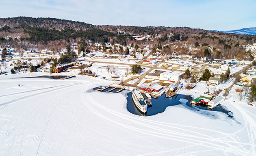
[[[180,87],[180,84],[178,85],[178,87]],[[119,90],[117,90],[117,89],[119,89]],[[98,91],[102,91],[102,92],[112,92],[112,93],[118,93],[125,89],[126,89],[125,87],[120,87],[120,86],[114,87],[111,85],[94,88],[94,90],[98,90]],[[193,104],[193,103],[191,103],[191,100],[193,100],[193,98],[191,96],[178,94],[177,93],[178,90],[179,89],[176,89],[176,92],[175,92],[176,96],[171,96],[170,98],[167,98],[166,93],[163,93],[161,96],[156,97],[156,98],[154,98],[154,96],[150,95],[149,93],[141,93],[141,95],[143,97],[143,99],[142,98],[141,99],[146,104],[146,113],[143,113],[141,110],[139,110],[140,108],[137,108],[135,101],[132,99],[132,92],[127,91],[127,92],[125,92],[127,95],[127,98],[126,98],[127,110],[130,113],[135,114],[135,115],[151,116],[151,115],[156,115],[158,113],[163,113],[168,106],[176,106],[176,105],[181,104],[182,106],[185,106],[186,108],[189,108],[195,112],[200,112],[200,110],[208,111],[208,113],[206,113],[206,115],[211,115],[210,112],[212,112],[212,111],[223,112],[228,117],[233,119],[233,116],[232,116],[233,113],[231,111],[228,111],[226,108],[223,108],[219,103],[214,104],[212,107],[208,107],[204,104]],[[153,98],[151,98],[151,97],[153,97]],[[187,102],[185,104],[182,104],[182,102],[180,102],[180,99],[186,99]],[[217,100],[215,100],[215,101],[217,101]],[[215,101],[213,101],[213,102],[215,102]],[[214,115],[212,115],[212,117],[213,116]]]

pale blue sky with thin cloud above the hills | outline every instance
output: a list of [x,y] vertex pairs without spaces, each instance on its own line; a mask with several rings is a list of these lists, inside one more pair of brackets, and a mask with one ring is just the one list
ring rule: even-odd
[[0,17],[54,17],[96,25],[256,27],[255,0],[0,0]]

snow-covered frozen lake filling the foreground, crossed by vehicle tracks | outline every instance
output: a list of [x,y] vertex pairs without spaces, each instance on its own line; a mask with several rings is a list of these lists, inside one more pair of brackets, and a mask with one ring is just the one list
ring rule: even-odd
[[127,111],[125,92],[92,90],[112,81],[88,76],[67,80],[7,78],[9,75],[0,76],[1,156],[256,153],[256,108],[247,104],[223,102],[241,124],[221,112],[215,112],[218,118],[214,119],[182,105],[142,117]]

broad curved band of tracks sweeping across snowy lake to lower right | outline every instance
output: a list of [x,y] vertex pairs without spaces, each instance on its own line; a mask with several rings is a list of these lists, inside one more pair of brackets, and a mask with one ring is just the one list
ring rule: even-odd
[[[113,122],[114,124],[118,124],[120,126],[123,126],[125,128],[129,128],[129,129],[137,131],[137,132],[150,134],[150,135],[155,136],[155,137],[160,137],[160,138],[164,138],[164,139],[171,139],[171,140],[181,141],[181,142],[184,142],[184,140],[186,140],[187,143],[192,144],[192,145],[189,145],[187,147],[193,147],[195,145],[200,145],[200,146],[208,147],[208,148],[213,149],[213,150],[223,150],[223,151],[230,152],[230,153],[233,153],[233,154],[252,155],[251,151],[246,150],[245,148],[243,148],[243,146],[251,145],[251,143],[241,143],[240,141],[237,141],[237,138],[233,137],[235,135],[235,133],[234,134],[226,134],[226,133],[223,133],[223,132],[220,132],[220,131],[214,131],[214,130],[210,130],[210,129],[206,129],[206,128],[197,128],[197,127],[192,127],[192,126],[184,126],[184,125],[178,125],[178,124],[164,123],[164,122],[159,122],[159,121],[152,121],[152,120],[148,120],[148,119],[142,119],[141,117],[132,117],[132,116],[129,116],[129,115],[123,115],[119,112],[115,112],[115,111],[113,111],[109,108],[106,108],[102,104],[99,104],[98,102],[93,100],[90,97],[90,95],[87,92],[85,92],[85,90],[86,89],[84,88],[83,91],[81,92],[81,98],[84,99],[83,101],[84,101],[85,105],[93,113],[99,115],[100,117],[103,117],[104,119],[106,119],[108,121]],[[106,115],[103,115],[102,113],[97,111],[97,109],[95,109],[94,106],[93,107],[90,106],[89,102],[91,102],[91,104],[94,104],[94,106],[98,106],[97,109],[102,109],[102,110],[104,110],[108,113],[111,113],[112,115],[123,118],[127,121],[133,122],[133,123],[138,124],[140,126],[138,128],[138,127],[135,127],[135,126],[129,126],[128,124],[123,124],[123,123],[119,123],[117,121],[114,121],[113,119],[110,119]],[[141,126],[145,126],[146,129],[148,129],[148,130],[140,128]],[[162,126],[164,128],[161,128],[160,126]],[[180,128],[180,127],[183,127],[183,128]],[[170,128],[187,131],[190,134],[187,134],[187,133],[184,133],[184,132],[178,132],[178,131],[175,131],[175,130],[170,130]],[[185,128],[193,128],[195,130],[187,130]],[[198,130],[198,129],[215,132],[217,134],[223,135],[224,137],[213,138],[213,137],[207,136],[205,134],[201,134],[201,133],[196,132],[196,130]],[[194,135],[191,135],[191,134],[199,135],[199,136],[194,136]],[[200,137],[200,135],[202,137]],[[227,140],[226,138],[230,138],[230,139]],[[255,147],[255,145],[252,145],[252,146]],[[182,150],[182,149],[187,148],[187,147],[181,147],[181,148],[174,149],[174,150]],[[169,152],[174,151],[174,150],[169,150]]]

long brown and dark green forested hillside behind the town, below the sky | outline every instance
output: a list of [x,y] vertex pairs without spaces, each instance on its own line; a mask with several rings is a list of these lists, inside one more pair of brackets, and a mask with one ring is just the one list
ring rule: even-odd
[[[134,35],[150,38],[134,40]],[[227,34],[188,27],[95,26],[55,18],[0,18],[0,46],[48,48],[59,52],[69,43],[98,42],[121,45],[150,45],[163,53],[193,54],[215,58],[234,58],[244,54],[241,45],[256,43],[256,36]],[[162,46],[165,45],[165,46]],[[192,49],[192,51],[191,51]]]

